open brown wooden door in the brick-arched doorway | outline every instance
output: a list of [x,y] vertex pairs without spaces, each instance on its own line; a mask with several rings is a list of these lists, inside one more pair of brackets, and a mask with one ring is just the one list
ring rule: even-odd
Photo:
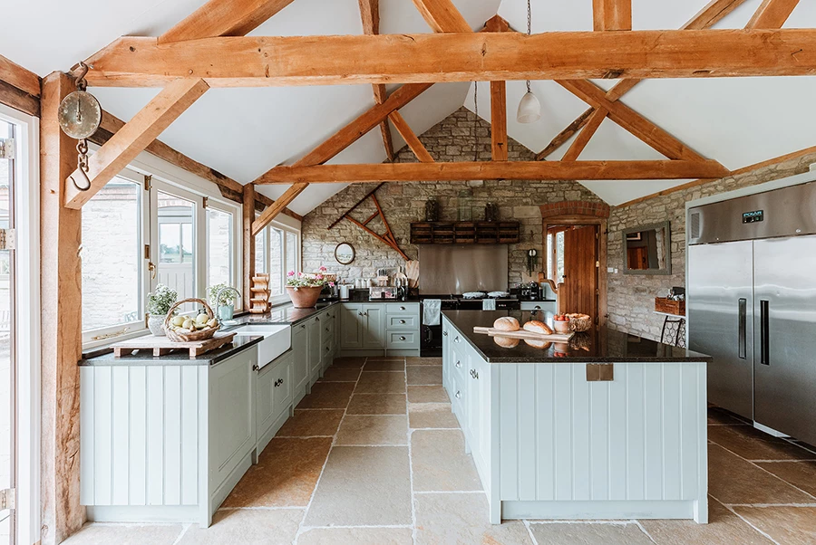
[[559,307],[597,318],[597,225],[564,233],[563,292],[565,301]]

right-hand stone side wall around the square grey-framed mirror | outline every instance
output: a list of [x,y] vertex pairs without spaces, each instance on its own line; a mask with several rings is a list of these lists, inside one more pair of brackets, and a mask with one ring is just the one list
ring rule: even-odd
[[[685,203],[741,187],[755,186],[808,171],[816,154],[792,159],[753,172],[725,177],[666,196],[626,207],[614,207],[609,218],[608,266],[618,269],[608,275],[609,324],[650,339],[659,339],[663,317],[656,315],[655,297],[665,297],[672,286],[685,286]],[[622,231],[638,225],[671,222],[672,274],[668,276],[627,275],[623,270]]]

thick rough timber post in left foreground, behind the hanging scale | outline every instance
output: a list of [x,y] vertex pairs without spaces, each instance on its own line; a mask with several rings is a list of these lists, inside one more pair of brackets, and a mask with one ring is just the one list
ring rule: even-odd
[[63,206],[76,167],[76,142],[57,122],[76,90],[62,72],[43,81],[40,120],[42,285],[42,543],[60,543],[85,521],[80,504],[79,367],[82,357],[82,212]]

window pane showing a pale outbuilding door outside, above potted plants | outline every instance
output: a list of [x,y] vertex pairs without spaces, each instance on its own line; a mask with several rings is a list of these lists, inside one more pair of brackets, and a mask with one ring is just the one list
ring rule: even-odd
[[[195,204],[159,192],[158,280],[179,293],[179,299],[196,297]],[[192,310],[182,309],[182,311]]]

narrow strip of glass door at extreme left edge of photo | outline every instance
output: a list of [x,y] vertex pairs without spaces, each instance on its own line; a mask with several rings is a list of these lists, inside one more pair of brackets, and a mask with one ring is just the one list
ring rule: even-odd
[[[0,139],[15,126],[0,120]],[[15,487],[15,159],[0,158],[0,491]],[[14,497],[14,492],[8,492]],[[14,511],[0,510],[0,544],[13,543]]]

